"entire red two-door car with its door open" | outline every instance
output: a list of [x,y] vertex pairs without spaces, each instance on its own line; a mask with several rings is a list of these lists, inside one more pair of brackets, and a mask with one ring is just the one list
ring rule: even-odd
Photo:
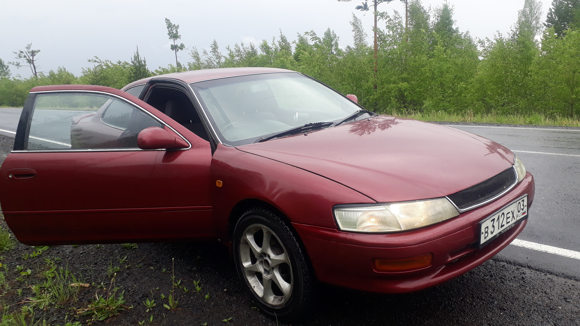
[[286,320],[316,282],[402,293],[466,273],[516,238],[533,198],[501,144],[274,68],[33,88],[0,169],[20,242],[222,241]]

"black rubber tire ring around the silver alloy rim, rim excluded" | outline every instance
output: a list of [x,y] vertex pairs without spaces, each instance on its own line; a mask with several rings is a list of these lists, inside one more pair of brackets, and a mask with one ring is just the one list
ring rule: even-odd
[[[288,302],[280,307],[273,307],[263,303],[252,291],[251,285],[249,285],[244,271],[241,268],[240,239],[242,233],[252,224],[262,224],[272,230],[281,244],[284,245],[284,249],[288,254],[290,267],[292,269],[292,293]],[[245,289],[252,297],[253,302],[263,313],[271,317],[278,318],[279,320],[295,320],[296,318],[303,317],[309,310],[311,306],[310,299],[313,294],[313,276],[311,275],[310,264],[307,262],[305,253],[296,231],[293,230],[290,223],[267,209],[249,209],[242,213],[235,225],[233,237],[235,269],[238,271],[238,275],[242,282],[244,282]]]

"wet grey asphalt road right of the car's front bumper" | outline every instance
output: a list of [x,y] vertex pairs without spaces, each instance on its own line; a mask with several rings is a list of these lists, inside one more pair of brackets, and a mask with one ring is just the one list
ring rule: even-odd
[[[536,194],[528,224],[518,239],[580,252],[580,128],[461,125],[454,128],[477,133],[513,150],[534,175]],[[515,245],[496,257],[580,280],[579,259]]]

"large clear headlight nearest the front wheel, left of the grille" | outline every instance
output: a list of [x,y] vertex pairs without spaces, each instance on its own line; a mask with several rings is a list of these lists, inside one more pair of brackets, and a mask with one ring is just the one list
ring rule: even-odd
[[396,232],[417,229],[459,215],[447,198],[397,202],[372,207],[336,208],[340,230]]

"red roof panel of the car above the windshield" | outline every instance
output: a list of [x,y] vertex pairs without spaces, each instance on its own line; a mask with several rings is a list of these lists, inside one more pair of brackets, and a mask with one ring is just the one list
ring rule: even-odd
[[153,78],[172,78],[184,81],[187,84],[198,81],[205,81],[208,79],[224,78],[224,77],[234,77],[240,75],[251,75],[251,74],[263,74],[263,73],[289,73],[294,72],[292,70],[280,69],[280,68],[266,68],[266,67],[243,67],[243,68],[218,68],[218,69],[202,69],[202,70],[190,70],[181,71],[179,73],[171,73],[164,75],[157,75],[153,77],[143,78],[138,81],[132,82],[131,84],[125,86],[123,89],[127,89],[131,86],[145,84],[149,79]]

